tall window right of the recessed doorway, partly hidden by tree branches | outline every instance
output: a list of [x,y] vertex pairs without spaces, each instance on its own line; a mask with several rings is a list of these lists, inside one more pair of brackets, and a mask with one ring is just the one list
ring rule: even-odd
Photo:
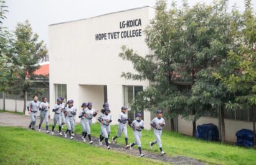
[[[143,91],[143,86],[123,86],[123,104],[128,107],[128,118],[135,119],[138,110],[130,109],[131,103],[138,92]],[[143,112],[140,112],[143,115]],[[144,117],[144,115],[143,115]]]

